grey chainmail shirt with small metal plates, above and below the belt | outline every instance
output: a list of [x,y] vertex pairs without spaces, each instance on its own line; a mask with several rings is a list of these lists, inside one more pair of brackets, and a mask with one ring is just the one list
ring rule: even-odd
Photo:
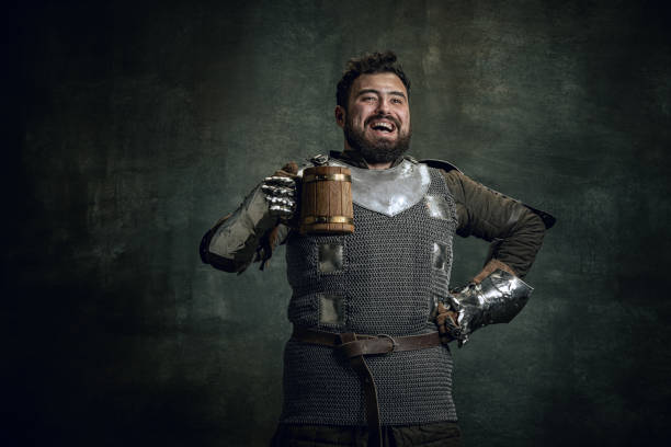
[[[435,297],[447,291],[456,211],[444,177],[429,172],[424,197],[393,217],[354,204],[353,234],[289,234],[289,321],[390,336],[436,330],[430,314]],[[456,421],[447,346],[367,356],[366,363],[383,424]],[[282,423],[366,424],[362,382],[330,347],[289,340],[283,386]]]

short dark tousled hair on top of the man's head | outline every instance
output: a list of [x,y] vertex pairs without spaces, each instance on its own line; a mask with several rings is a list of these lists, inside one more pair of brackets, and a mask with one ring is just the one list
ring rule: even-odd
[[401,80],[406,90],[408,91],[408,98],[410,96],[410,80],[403,72],[400,64],[396,62],[396,54],[394,51],[384,53],[368,53],[362,57],[352,58],[348,60],[348,68],[342,74],[342,78],[338,82],[336,90],[336,101],[338,105],[348,108],[348,101],[350,99],[350,91],[354,80],[362,74],[371,73],[384,73],[390,72]]

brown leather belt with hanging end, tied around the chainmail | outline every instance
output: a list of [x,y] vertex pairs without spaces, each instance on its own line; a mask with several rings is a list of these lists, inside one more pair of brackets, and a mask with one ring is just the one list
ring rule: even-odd
[[364,356],[425,349],[441,344],[437,332],[391,336],[387,334],[355,334],[353,332],[336,333],[303,326],[294,326],[292,339],[304,343],[332,347],[350,359],[350,365],[352,365],[352,368],[363,382],[366,402],[366,422],[368,423],[368,446],[375,447],[382,447],[377,387]]

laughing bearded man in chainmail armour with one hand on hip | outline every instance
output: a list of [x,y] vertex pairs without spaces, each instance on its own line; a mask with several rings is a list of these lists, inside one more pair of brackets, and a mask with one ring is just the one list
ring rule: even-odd
[[[460,445],[448,343],[510,321],[554,218],[439,160],[406,156],[410,82],[387,51],[351,59],[338,83],[344,150],[288,163],[203,238],[203,262],[242,272],[286,243],[294,332],[284,353],[275,446]],[[352,172],[355,231],[296,231],[308,165]],[[454,234],[492,242],[485,267],[448,291]]]

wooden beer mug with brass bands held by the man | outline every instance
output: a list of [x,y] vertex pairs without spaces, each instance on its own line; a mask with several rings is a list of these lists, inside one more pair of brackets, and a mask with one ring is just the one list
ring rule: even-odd
[[312,167],[303,171],[300,233],[354,232],[352,175],[348,168]]

